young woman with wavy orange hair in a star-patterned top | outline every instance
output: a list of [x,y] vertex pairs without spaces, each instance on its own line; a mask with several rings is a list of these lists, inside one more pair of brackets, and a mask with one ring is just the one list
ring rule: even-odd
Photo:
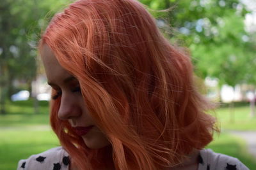
[[61,146],[18,169],[248,169],[204,147],[211,108],[191,60],[135,0],[81,0],[52,18],[39,45]]

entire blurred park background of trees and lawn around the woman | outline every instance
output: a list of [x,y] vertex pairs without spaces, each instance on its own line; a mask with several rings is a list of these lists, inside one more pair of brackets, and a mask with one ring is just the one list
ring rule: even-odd
[[[36,44],[68,0],[0,3],[0,170],[58,146]],[[171,43],[186,46],[199,90],[220,102],[221,134],[207,146],[256,169],[256,1],[141,0]],[[168,9],[168,10],[166,10]],[[23,100],[23,101],[20,101]]]

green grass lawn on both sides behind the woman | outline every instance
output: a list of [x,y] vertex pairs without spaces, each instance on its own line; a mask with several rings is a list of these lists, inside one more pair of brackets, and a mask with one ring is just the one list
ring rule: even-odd
[[[58,139],[49,127],[48,104],[40,103],[38,115],[33,114],[31,106],[31,101],[8,103],[8,114],[0,115],[0,170],[16,169],[20,159],[58,146]],[[222,129],[256,130],[256,120],[248,117],[249,113],[246,106],[236,108],[234,123],[229,122],[228,108],[220,108],[215,114]],[[237,157],[250,169],[256,167],[243,139],[221,133],[207,148]]]

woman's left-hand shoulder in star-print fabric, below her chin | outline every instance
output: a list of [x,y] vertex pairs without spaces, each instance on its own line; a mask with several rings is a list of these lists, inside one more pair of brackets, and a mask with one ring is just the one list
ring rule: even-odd
[[69,165],[68,153],[60,146],[42,153],[31,155],[28,159],[19,161],[17,170],[67,170]]

